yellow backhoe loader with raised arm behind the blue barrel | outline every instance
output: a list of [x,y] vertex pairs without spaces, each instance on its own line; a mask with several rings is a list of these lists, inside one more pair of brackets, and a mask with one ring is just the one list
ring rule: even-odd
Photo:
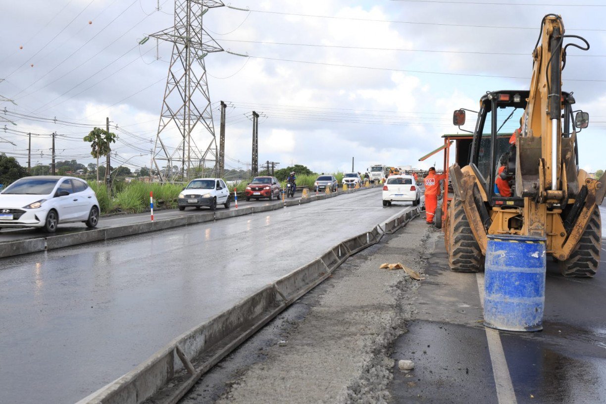
[[[595,180],[579,168],[578,133],[589,115],[574,110],[573,93],[562,91],[570,46],[589,49],[584,38],[564,35],[561,16],[546,15],[530,90],[487,91],[480,99],[469,164],[448,168],[454,195],[444,233],[451,270],[481,270],[487,235],[507,234],[544,238],[564,276],[596,273],[606,175]],[[465,111],[454,111],[461,130]]]

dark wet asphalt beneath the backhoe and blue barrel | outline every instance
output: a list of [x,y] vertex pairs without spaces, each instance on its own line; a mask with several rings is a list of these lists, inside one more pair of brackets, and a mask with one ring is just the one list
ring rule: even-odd
[[[429,277],[419,288],[417,313],[393,352],[416,366],[411,373],[395,369],[394,402],[499,403],[476,275],[448,270],[441,235],[426,254]],[[499,331],[513,402],[606,402],[604,238],[601,254],[593,279],[564,278],[548,260],[544,330]]]

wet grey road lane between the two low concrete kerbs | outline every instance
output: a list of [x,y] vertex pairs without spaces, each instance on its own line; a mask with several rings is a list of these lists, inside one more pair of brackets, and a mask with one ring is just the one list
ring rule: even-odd
[[382,207],[375,188],[1,259],[0,402],[76,402],[173,337],[402,208]]

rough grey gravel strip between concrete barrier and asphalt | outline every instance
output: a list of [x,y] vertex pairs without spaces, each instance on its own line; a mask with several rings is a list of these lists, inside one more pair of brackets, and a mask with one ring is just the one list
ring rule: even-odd
[[[433,231],[411,221],[347,260],[205,375],[184,403],[385,403],[393,341],[406,332]],[[408,358],[398,358],[408,359]]]

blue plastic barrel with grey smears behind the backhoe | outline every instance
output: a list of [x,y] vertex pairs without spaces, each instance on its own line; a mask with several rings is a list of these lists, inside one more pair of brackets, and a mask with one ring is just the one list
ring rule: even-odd
[[484,272],[484,325],[540,331],[545,308],[545,239],[489,235]]

